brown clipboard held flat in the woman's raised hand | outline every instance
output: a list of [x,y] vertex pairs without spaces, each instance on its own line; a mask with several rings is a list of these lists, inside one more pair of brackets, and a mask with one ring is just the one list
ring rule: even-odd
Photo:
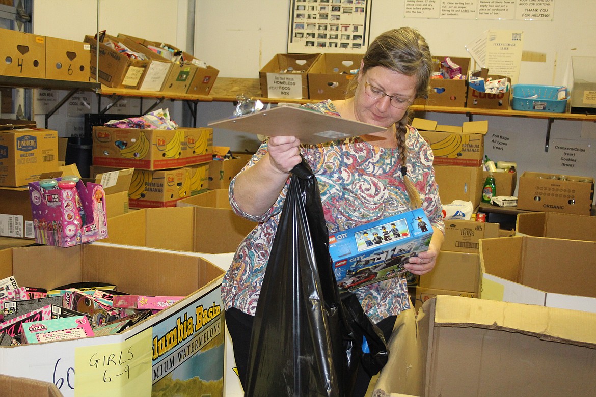
[[212,121],[207,126],[265,136],[296,136],[302,143],[322,143],[386,130],[373,124],[287,105]]

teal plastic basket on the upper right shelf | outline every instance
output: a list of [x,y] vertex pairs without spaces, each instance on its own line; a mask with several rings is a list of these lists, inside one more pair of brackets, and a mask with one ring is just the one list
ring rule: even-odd
[[563,86],[541,86],[532,84],[516,84],[511,87],[513,110],[530,112],[563,113],[567,108],[569,93],[565,88],[565,99],[557,99],[558,91]]

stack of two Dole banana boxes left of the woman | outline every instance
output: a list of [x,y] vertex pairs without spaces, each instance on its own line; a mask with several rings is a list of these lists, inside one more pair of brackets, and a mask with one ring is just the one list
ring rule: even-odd
[[207,190],[213,129],[93,128],[92,174],[135,168],[131,208],[175,207],[181,198]]

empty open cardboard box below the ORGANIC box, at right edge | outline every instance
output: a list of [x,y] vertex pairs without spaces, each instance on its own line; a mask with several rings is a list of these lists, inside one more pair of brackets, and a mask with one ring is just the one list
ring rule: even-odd
[[524,212],[517,214],[516,234],[596,241],[596,217],[558,212]]

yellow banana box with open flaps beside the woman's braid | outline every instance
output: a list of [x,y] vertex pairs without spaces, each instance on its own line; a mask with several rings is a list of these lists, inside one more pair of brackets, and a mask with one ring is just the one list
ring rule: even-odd
[[415,117],[412,127],[433,149],[434,165],[482,165],[487,120],[465,121],[461,126],[439,126],[436,121]]

